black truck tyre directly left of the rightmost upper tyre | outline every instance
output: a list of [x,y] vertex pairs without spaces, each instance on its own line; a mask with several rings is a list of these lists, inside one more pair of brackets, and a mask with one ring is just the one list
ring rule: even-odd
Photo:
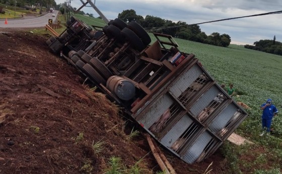
[[129,28],[122,29],[120,33],[138,51],[142,51],[146,47],[142,40]]

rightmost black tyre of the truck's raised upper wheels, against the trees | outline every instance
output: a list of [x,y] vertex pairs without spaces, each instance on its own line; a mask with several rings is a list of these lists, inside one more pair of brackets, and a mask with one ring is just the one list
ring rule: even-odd
[[143,41],[144,45],[148,45],[151,43],[151,38],[149,34],[145,31],[145,29],[140,26],[138,23],[135,21],[131,21],[128,25],[127,28],[132,30],[139,38]]

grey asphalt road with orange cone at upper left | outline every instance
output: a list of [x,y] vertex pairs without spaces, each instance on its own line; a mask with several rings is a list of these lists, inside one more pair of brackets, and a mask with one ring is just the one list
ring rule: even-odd
[[[52,17],[52,14],[54,14]],[[36,28],[44,27],[48,24],[48,20],[52,19],[53,24],[57,18],[58,11],[53,13],[47,13],[40,17],[28,17],[24,16],[23,19],[8,19],[8,24],[5,24],[5,19],[0,21],[0,28]]]

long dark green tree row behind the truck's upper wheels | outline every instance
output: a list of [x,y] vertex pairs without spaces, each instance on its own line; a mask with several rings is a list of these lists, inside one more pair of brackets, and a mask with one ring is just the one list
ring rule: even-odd
[[119,13],[118,18],[127,23],[135,21],[148,32],[164,33],[175,38],[222,47],[228,47],[231,42],[231,38],[228,34],[214,32],[207,36],[201,31],[198,25],[188,25],[186,22],[182,21],[175,23],[150,15],[147,15],[144,19],[142,16],[136,15],[136,12],[132,9],[124,10],[122,13]]

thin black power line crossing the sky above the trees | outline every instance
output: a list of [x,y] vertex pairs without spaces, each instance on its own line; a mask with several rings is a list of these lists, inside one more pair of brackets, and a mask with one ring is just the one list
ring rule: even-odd
[[261,14],[256,14],[256,15],[248,15],[248,16],[235,17],[235,18],[226,18],[226,19],[220,19],[220,20],[215,20],[215,21],[207,21],[207,22],[201,22],[201,23],[196,23],[196,24],[186,24],[186,25],[169,26],[169,27],[153,27],[153,28],[145,28],[145,29],[147,31],[157,31],[157,30],[161,30],[161,29],[185,27],[185,26],[191,26],[191,25],[200,25],[200,24],[213,23],[213,22],[219,22],[219,21],[227,21],[227,20],[233,20],[233,19],[239,19],[239,18],[249,18],[249,17],[255,17],[255,16],[264,16],[264,15],[274,15],[274,14],[280,14],[280,13],[282,13],[282,11],[261,13]]

